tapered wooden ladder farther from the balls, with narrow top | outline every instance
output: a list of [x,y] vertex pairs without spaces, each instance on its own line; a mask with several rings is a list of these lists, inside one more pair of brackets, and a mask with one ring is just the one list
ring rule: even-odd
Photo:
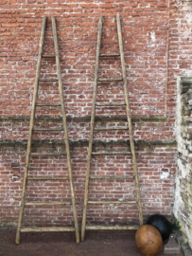
[[[64,101],[63,101],[63,91],[62,91],[62,82],[61,82],[61,65],[60,65],[60,56],[59,56],[59,48],[58,48],[58,38],[57,38],[57,30],[56,30],[56,20],[55,17],[51,17],[52,20],[52,28],[53,28],[53,39],[54,39],[54,47],[55,47],[55,55],[43,55],[44,50],[44,33],[46,27],[46,17],[43,17],[43,25],[42,25],[42,33],[40,39],[40,48],[39,48],[39,56],[38,56],[38,63],[37,63],[37,71],[36,71],[36,80],[34,85],[34,93],[33,93],[33,101],[32,101],[32,110],[30,116],[30,124],[29,124],[29,133],[28,133],[28,140],[27,140],[27,148],[26,148],[26,166],[25,166],[25,174],[24,174],[24,181],[23,181],[23,190],[22,190],[22,197],[21,197],[21,206],[19,212],[19,219],[18,219],[18,226],[17,226],[17,233],[15,243],[20,243],[20,232],[30,232],[30,231],[75,231],[76,232],[76,241],[79,243],[79,224],[78,224],[78,215],[76,209],[76,198],[74,192],[74,184],[73,184],[73,174],[72,174],[72,167],[71,167],[71,156],[70,156],[70,148],[69,148],[69,139],[67,134],[67,124],[66,124],[66,115],[65,115],[65,108],[64,108]],[[57,65],[57,75],[58,79],[40,79],[41,73],[41,64],[42,58],[56,58],[56,65]],[[52,103],[37,103],[38,97],[38,88],[39,82],[58,82],[59,83],[59,91],[60,91],[60,100],[61,103],[52,104]],[[55,129],[45,129],[45,128],[34,128],[35,123],[35,112],[36,107],[38,106],[61,106],[61,116],[62,116],[62,126],[63,128],[55,128]],[[32,135],[33,131],[64,131],[64,141],[65,141],[65,152],[60,153],[31,153],[31,142],[32,142]],[[28,175],[28,167],[31,155],[66,155],[67,156],[67,166],[68,166],[68,176],[67,177],[27,177]],[[70,183],[70,190],[71,190],[71,202],[50,202],[50,203],[40,203],[40,202],[26,202],[26,185],[27,180],[69,180]],[[62,206],[62,205],[72,205],[73,214],[74,214],[74,223],[75,228],[73,227],[52,227],[52,228],[22,228],[23,222],[23,214],[25,206]]]

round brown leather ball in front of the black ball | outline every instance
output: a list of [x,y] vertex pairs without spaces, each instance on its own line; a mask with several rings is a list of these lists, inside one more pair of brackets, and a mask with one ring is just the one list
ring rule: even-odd
[[155,256],[162,248],[161,233],[151,225],[144,225],[136,231],[136,245],[146,256]]

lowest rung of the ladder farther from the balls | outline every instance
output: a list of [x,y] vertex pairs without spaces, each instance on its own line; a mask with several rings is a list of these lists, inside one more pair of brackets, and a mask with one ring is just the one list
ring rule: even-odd
[[75,231],[71,227],[48,227],[48,228],[23,228],[21,232],[46,232],[46,231]]

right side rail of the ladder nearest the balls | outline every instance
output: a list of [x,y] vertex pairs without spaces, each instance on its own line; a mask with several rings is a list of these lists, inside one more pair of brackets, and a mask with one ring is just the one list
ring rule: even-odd
[[129,96],[128,96],[128,85],[127,85],[125,60],[124,60],[124,52],[123,52],[123,41],[122,41],[119,13],[116,14],[116,23],[117,23],[118,43],[119,43],[119,49],[120,49],[121,67],[122,67],[122,75],[123,75],[123,83],[124,83],[126,112],[127,112],[127,119],[128,119],[129,131],[130,131],[131,155],[132,155],[132,164],[133,164],[134,180],[135,180],[135,187],[136,187],[137,206],[138,206],[138,211],[139,211],[139,222],[140,222],[140,226],[142,226],[143,225],[143,214],[142,214],[142,207],[141,207],[141,196],[140,196],[139,181],[138,181],[138,174],[137,174],[137,163],[136,163],[136,156],[135,156],[135,150],[134,150],[134,141],[133,141],[133,136],[132,136],[131,110],[130,110],[130,102],[129,102]]

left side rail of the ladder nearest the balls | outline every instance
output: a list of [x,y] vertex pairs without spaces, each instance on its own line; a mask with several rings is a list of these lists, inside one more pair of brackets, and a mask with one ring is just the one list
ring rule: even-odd
[[99,55],[100,55],[102,19],[103,19],[103,16],[99,15],[97,46],[96,46],[96,70],[95,70],[95,81],[94,81],[94,96],[93,96],[93,102],[92,102],[92,117],[91,117],[91,129],[90,129],[89,150],[88,150],[88,159],[87,159],[84,205],[83,205],[83,214],[82,214],[81,241],[84,241],[85,229],[86,229],[89,177],[90,177],[92,146],[93,146],[93,138],[94,138],[94,124],[95,124],[95,115],[96,115],[96,90],[97,90],[97,80],[98,80],[98,64],[99,64]]

